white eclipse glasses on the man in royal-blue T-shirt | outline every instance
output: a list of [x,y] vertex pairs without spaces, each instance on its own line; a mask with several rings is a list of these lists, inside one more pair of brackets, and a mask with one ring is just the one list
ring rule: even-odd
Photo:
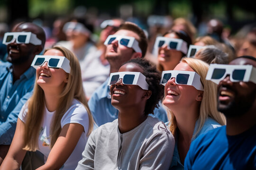
[[256,68],[252,65],[210,64],[206,80],[219,84],[227,75],[231,82],[248,82],[256,84]]

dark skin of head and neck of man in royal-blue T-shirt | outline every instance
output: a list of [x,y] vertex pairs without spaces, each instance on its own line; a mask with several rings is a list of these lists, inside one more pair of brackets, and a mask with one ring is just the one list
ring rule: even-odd
[[[232,60],[229,64],[231,65],[253,65],[253,67],[256,68],[256,61],[252,59],[245,59],[245,58],[239,58]],[[231,104],[231,102],[239,101],[241,98],[250,98],[250,107],[247,108],[246,111],[240,111],[237,116],[234,115],[227,115],[226,112],[223,111],[223,113],[227,117],[227,127],[226,132],[229,136],[234,136],[241,134],[254,125],[256,125],[256,94],[254,93],[256,91],[256,84],[253,82],[231,82],[229,79],[229,76],[227,76],[225,79],[219,82],[218,85],[218,109],[227,109]],[[229,92],[230,95],[226,95],[225,98],[223,98],[221,93]],[[250,97],[249,97],[250,96]],[[248,102],[245,100],[241,100],[241,105],[244,104],[243,102]],[[232,105],[232,107],[237,106],[237,104]],[[235,112],[235,111],[234,111]]]

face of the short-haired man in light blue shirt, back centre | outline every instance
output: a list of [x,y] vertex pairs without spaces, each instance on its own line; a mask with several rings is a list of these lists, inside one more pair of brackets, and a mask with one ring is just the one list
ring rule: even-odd
[[[129,30],[119,30],[114,35],[123,35],[123,36],[131,36],[135,37],[135,39],[139,40],[140,37]],[[124,45],[119,45],[118,40],[114,40],[111,42],[111,44],[107,45],[106,59],[110,60],[116,60],[120,63],[120,66],[127,62],[130,59],[134,58],[135,51],[132,48],[128,48]]]

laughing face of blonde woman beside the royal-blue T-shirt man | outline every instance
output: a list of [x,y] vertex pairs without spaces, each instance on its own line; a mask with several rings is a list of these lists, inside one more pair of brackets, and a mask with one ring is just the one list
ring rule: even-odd
[[[194,71],[187,63],[179,63],[174,70]],[[192,85],[177,85],[175,78],[171,78],[165,85],[165,100],[163,104],[171,110],[186,108],[197,102],[201,91]]]

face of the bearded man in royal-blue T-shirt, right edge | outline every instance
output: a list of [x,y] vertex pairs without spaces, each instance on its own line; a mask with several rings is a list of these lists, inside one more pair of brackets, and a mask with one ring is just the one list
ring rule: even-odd
[[[234,59],[230,65],[253,65],[252,59]],[[256,102],[256,84],[253,82],[231,82],[229,75],[218,85],[218,110],[227,118],[245,114]]]

